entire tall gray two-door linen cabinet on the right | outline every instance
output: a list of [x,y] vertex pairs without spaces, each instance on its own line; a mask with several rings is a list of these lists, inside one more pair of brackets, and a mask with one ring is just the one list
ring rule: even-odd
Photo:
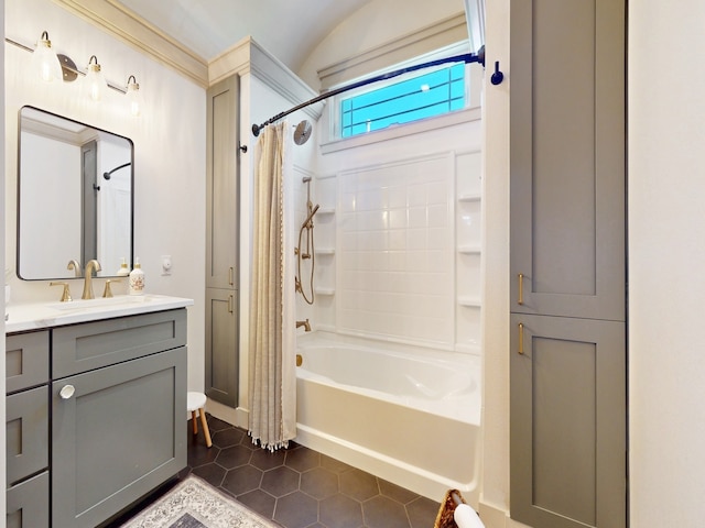
[[627,526],[622,0],[512,0],[510,496]]

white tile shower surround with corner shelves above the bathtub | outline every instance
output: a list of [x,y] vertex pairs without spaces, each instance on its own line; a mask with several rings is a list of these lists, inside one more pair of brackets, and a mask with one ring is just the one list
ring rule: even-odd
[[317,297],[318,322],[476,348],[479,161],[479,152],[442,153],[316,179],[314,202],[335,210],[316,221],[316,248],[333,250],[317,256],[316,283],[334,294]]

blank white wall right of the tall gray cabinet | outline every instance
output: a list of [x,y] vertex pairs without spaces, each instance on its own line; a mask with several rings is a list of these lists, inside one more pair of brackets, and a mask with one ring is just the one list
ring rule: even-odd
[[705,522],[704,20],[699,0],[629,3],[633,527]]

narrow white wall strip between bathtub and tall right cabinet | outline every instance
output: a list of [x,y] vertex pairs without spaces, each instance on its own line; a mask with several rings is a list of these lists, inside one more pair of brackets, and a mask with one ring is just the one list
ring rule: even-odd
[[486,64],[503,65],[499,86],[485,78],[485,246],[482,297],[482,494],[480,516],[505,526],[509,512],[509,0],[486,2]]

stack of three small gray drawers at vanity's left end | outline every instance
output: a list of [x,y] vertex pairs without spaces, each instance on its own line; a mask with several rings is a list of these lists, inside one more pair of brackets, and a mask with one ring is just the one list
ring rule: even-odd
[[6,339],[6,526],[48,526],[48,331]]

